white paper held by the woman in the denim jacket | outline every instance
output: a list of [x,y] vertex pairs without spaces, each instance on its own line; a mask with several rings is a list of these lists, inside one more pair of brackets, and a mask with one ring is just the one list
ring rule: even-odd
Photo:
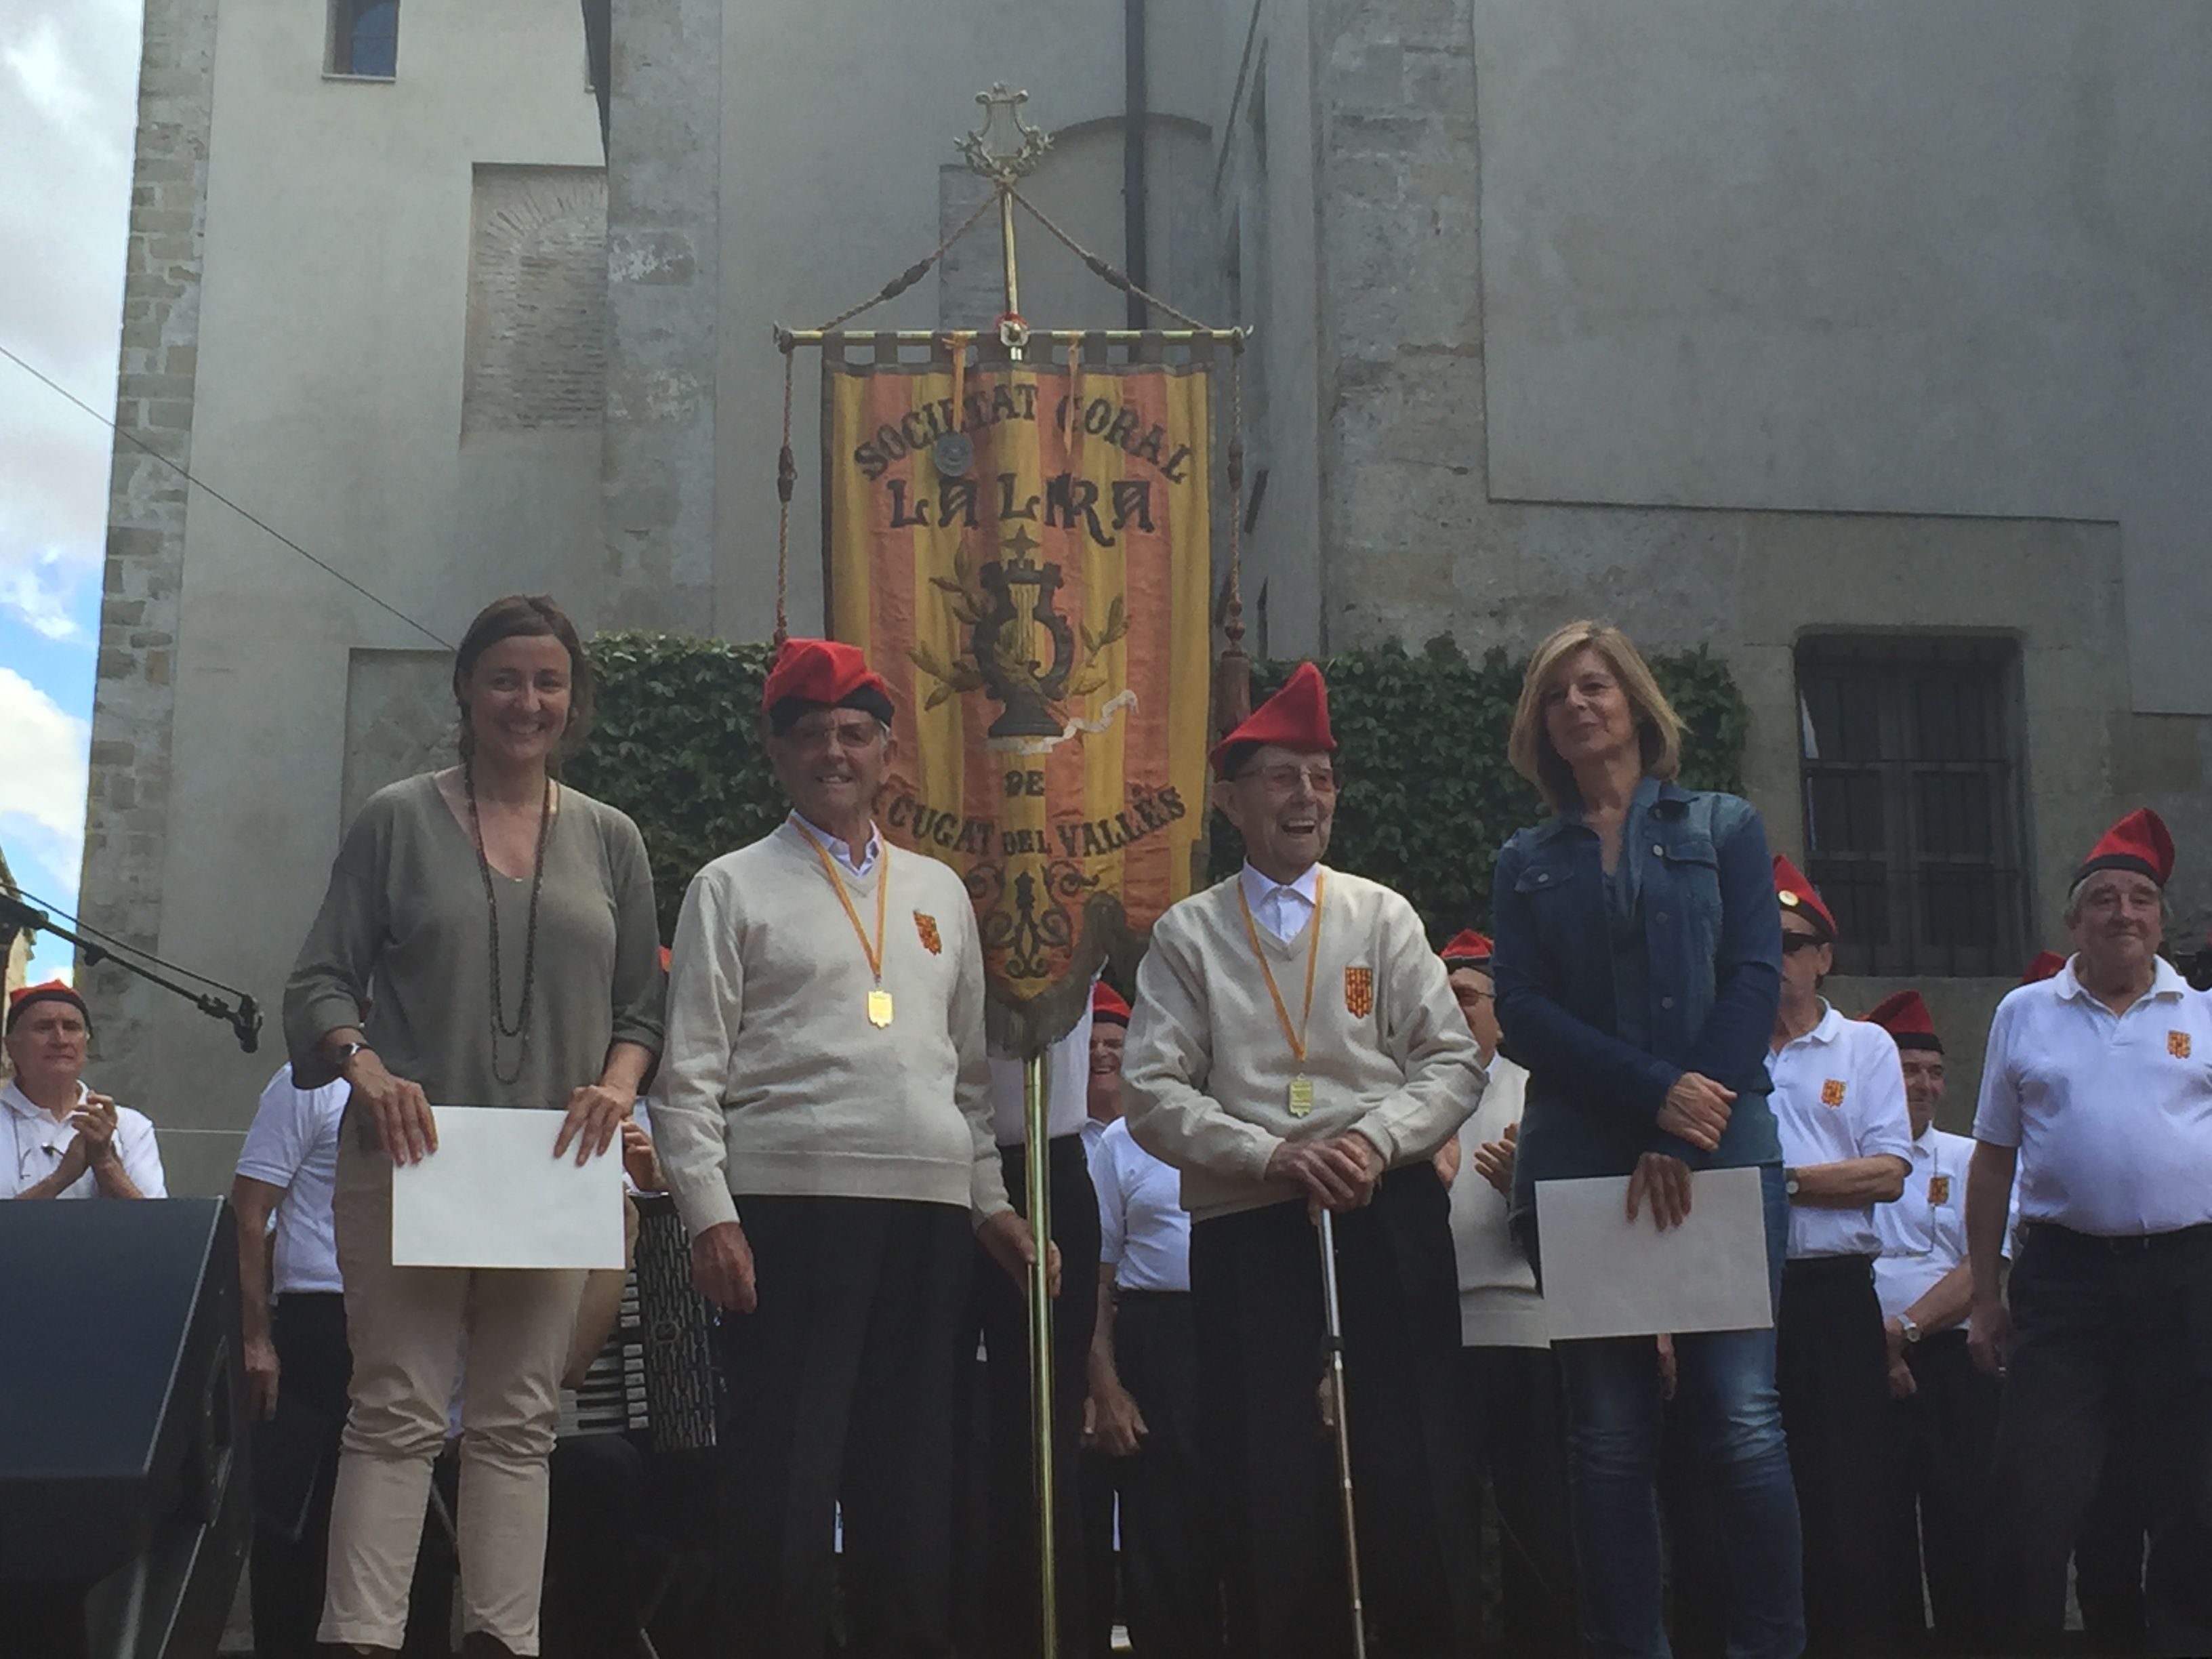
[[1699,1170],[1688,1221],[1666,1232],[1650,1206],[1628,1219],[1626,1175],[1537,1181],[1535,1219],[1555,1343],[1774,1323],[1759,1170]]

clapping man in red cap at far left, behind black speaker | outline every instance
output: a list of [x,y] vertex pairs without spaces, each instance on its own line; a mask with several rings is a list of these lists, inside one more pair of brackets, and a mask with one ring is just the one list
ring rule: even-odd
[[161,1150],[144,1113],[84,1086],[93,1022],[84,998],[60,980],[13,991],[0,1119],[11,1159],[0,1199],[164,1199]]

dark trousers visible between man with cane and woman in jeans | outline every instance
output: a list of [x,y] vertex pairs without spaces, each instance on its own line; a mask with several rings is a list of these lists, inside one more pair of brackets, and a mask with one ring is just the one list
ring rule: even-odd
[[[1498,1517],[1502,1641],[1493,1652],[1575,1652],[1575,1533],[1566,1511],[1566,1400],[1548,1347],[1462,1347],[1473,1502]],[[1480,1513],[1480,1511],[1478,1511]]]

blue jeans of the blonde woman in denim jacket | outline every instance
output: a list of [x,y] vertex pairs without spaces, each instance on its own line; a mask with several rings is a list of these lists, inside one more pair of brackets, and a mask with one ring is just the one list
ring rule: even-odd
[[[1761,1166],[1759,1177],[1767,1283],[1778,1303],[1790,1199],[1781,1166]],[[1666,1407],[1652,1338],[1559,1343],[1557,1354],[1566,1371],[1584,1652],[1668,1659],[1659,1553]],[[1805,1597],[1796,1489],[1774,1394],[1774,1332],[1677,1336],[1674,1356],[1674,1409],[1690,1418],[1728,1564],[1730,1659],[1792,1659],[1805,1650]]]

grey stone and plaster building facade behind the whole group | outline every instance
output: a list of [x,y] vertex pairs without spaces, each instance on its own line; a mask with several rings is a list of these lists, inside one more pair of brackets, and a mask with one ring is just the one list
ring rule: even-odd
[[[967,217],[1006,80],[1077,239],[1256,327],[1254,646],[1710,644],[1776,845],[1865,920],[1836,1000],[1929,993],[1953,1119],[2124,807],[2203,936],[2199,9],[615,0],[606,150],[573,0],[407,0],[387,80],[321,13],[148,0],[122,414],[445,639],[511,588],[763,637],[770,325]],[[1126,321],[1026,228],[1022,265],[1033,321]],[[858,325],[993,312],[987,237]],[[84,902],[274,1002],[345,818],[447,737],[445,657],[173,480],[119,445]],[[816,538],[803,482],[799,628]],[[270,1055],[91,991],[212,1190]]]

